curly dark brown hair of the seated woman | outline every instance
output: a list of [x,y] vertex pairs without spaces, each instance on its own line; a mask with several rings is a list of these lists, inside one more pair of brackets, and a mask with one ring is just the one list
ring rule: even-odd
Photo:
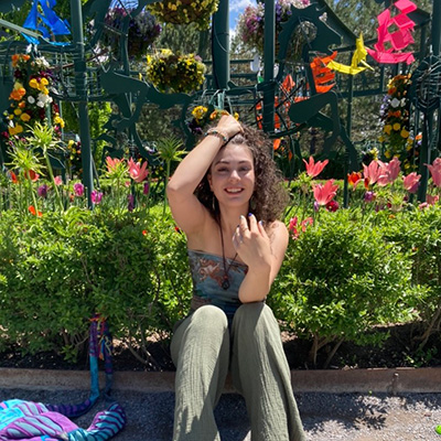
[[[247,146],[252,154],[256,181],[249,212],[258,220],[271,223],[283,214],[289,201],[288,191],[283,186],[282,174],[270,154],[272,141],[263,132],[252,127],[243,125],[243,130],[241,133],[235,135],[228,143]],[[209,170],[196,187],[195,194],[213,218],[218,222],[219,205],[209,189],[208,173]]]

